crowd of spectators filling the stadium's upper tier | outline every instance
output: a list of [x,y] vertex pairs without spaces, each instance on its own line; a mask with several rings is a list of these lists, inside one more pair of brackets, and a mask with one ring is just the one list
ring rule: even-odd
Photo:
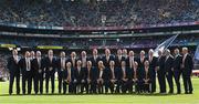
[[199,0],[1,0],[0,22],[132,27],[199,21]]

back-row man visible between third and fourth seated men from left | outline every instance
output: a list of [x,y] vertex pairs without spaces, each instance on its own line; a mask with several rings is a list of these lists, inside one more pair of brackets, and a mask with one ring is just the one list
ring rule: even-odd
[[92,62],[92,65],[94,69],[97,69],[97,64],[101,58],[98,56],[98,51],[97,49],[93,49],[93,55],[91,56],[90,61]]

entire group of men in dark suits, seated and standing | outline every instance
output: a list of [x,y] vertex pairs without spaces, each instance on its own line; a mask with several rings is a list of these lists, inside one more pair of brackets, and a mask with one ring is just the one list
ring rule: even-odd
[[[92,56],[87,56],[86,51],[82,51],[77,59],[72,52],[69,58],[64,51],[55,58],[53,50],[49,50],[46,56],[42,56],[40,51],[27,51],[20,59],[18,51],[12,51],[12,56],[8,59],[10,71],[9,94],[12,94],[15,79],[17,94],[20,94],[20,75],[22,75],[22,94],[31,94],[32,86],[34,93],[43,94],[43,82],[45,81],[45,93],[51,93],[55,89],[55,72],[57,72],[59,93],[155,93],[156,77],[159,82],[159,93],[166,93],[166,82],[169,85],[170,94],[174,93],[175,79],[177,93],[181,93],[180,75],[182,75],[185,93],[192,93],[191,72],[192,58],[187,48],[182,48],[182,55],[179,49],[164,52],[158,51],[158,58],[154,56],[154,50],[140,51],[139,56],[135,56],[134,51],[117,50],[117,54],[111,54],[109,49],[105,50],[103,56],[98,55],[97,49],[93,50]],[[166,81],[167,80],[167,81]],[[33,83],[33,85],[32,85]],[[27,86],[28,85],[28,86]],[[28,93],[25,92],[28,90]]]

